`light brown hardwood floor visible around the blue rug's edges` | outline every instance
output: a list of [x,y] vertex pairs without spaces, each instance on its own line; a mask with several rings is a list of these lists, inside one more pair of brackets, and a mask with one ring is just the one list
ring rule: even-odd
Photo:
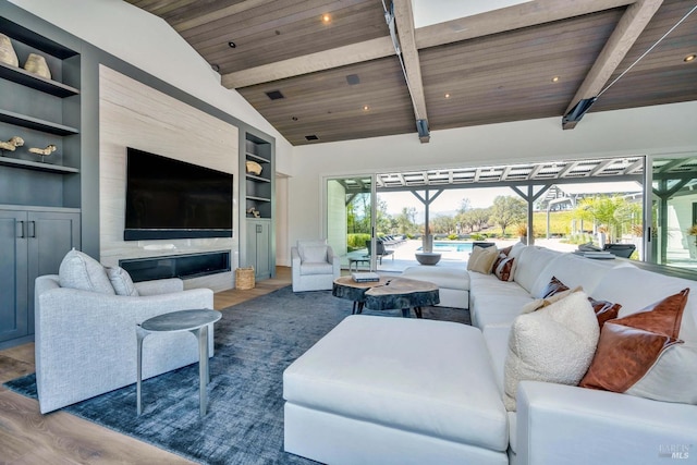
[[[217,293],[216,309],[268,294],[291,283],[291,269],[255,289]],[[135,356],[135,355],[134,355]],[[34,344],[0,351],[0,384],[34,372]],[[134,414],[135,414],[135,406]],[[38,402],[0,386],[0,465],[191,464],[178,455],[65,412],[41,415]]]

